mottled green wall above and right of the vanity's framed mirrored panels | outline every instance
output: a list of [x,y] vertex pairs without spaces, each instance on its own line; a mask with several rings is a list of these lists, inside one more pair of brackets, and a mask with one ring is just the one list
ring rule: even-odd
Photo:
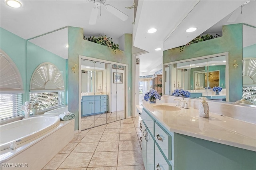
[[[163,63],[228,52],[229,101],[235,102],[242,98],[242,23],[222,27],[222,37],[214,38],[179,48],[164,51]],[[238,67],[233,64],[236,59]]]

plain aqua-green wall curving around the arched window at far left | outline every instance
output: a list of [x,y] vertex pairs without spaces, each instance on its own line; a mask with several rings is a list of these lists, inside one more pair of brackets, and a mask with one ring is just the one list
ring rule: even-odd
[[16,64],[20,75],[25,93],[23,101],[26,101],[26,78],[27,78],[27,57],[26,57],[26,40],[0,28],[0,48],[11,57]]

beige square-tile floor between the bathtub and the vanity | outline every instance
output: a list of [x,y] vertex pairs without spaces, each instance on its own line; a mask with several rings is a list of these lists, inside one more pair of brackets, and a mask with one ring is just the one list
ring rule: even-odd
[[140,120],[122,119],[75,134],[42,170],[145,170]]

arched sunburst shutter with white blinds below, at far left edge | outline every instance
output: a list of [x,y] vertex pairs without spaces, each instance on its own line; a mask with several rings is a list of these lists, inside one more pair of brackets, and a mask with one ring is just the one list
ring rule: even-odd
[[23,83],[12,59],[0,49],[0,120],[22,115]]

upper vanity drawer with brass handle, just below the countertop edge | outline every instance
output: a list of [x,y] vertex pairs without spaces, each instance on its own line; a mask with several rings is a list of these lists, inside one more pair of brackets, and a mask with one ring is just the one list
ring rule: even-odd
[[173,144],[173,134],[168,133],[164,128],[159,125],[158,122],[155,123],[155,139],[162,152],[168,160],[172,160],[172,144]]

